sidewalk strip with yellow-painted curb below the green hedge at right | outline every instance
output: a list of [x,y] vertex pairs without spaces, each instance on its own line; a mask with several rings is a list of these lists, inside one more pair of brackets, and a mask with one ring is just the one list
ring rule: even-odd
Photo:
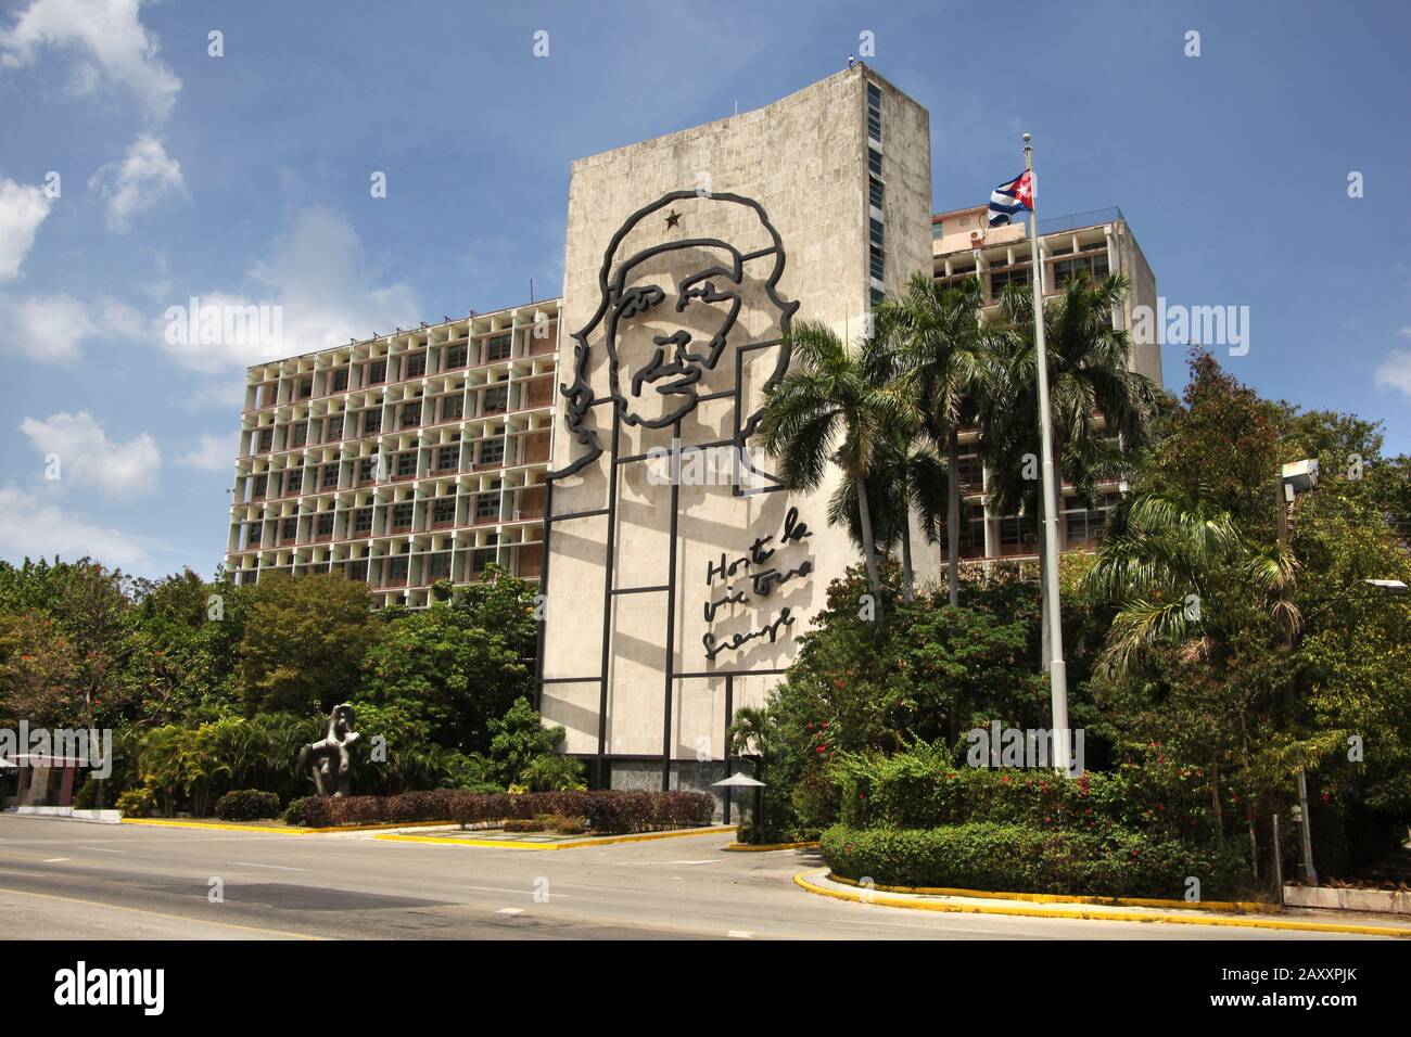
[[1384,914],[1349,914],[1346,911],[1319,911],[1304,907],[1285,907],[1267,914],[1216,911],[1201,907],[1167,907],[1137,904],[1092,904],[1077,900],[1044,899],[1041,903],[1027,899],[1006,899],[1005,895],[989,896],[940,896],[931,893],[900,893],[868,890],[855,883],[840,882],[830,876],[827,868],[803,872],[794,876],[794,883],[818,896],[854,903],[906,907],[923,911],[952,911],[967,914],[1010,914],[1033,918],[1086,918],[1098,921],[1144,921],[1175,926],[1232,926],[1239,928],[1266,928],[1305,933],[1338,933],[1348,935],[1380,935],[1411,940],[1411,918]]

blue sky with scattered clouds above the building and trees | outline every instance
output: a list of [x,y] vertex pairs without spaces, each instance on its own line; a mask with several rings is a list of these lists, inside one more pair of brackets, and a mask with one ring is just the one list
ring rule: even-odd
[[1029,130],[1040,216],[1120,206],[1171,303],[1250,308],[1237,377],[1411,451],[1404,3],[11,0],[0,557],[213,571],[258,357],[168,346],[168,306],[281,305],[298,353],[557,295],[573,158],[775,100],[864,31],[930,109],[937,210]]

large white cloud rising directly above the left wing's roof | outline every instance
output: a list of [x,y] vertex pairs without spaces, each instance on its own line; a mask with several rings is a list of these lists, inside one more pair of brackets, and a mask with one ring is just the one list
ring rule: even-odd
[[357,231],[334,209],[301,210],[262,254],[265,258],[248,275],[253,291],[207,292],[199,302],[202,313],[209,308],[226,315],[270,308],[261,329],[274,332],[192,336],[186,322],[189,301],[182,299],[182,310],[162,341],[183,367],[219,374],[416,323],[416,295],[405,284],[381,284]]

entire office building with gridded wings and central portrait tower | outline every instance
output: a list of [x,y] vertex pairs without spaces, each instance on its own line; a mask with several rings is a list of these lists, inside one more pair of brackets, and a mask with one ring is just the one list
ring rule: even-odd
[[[1023,226],[930,199],[926,109],[865,65],[576,161],[562,299],[250,368],[227,567],[340,571],[413,607],[490,562],[540,580],[536,704],[564,751],[600,786],[708,786],[734,711],[858,562],[827,522],[835,466],[797,492],[761,449],[793,322],[851,341],[917,271],[989,299],[1027,277]],[[1041,244],[1054,289],[1132,277],[1115,326],[1154,296],[1116,210],[1046,222]],[[1132,364],[1160,378],[1154,347]],[[988,515],[962,464],[965,557],[1031,556],[1033,521]],[[1102,518],[1068,509],[1068,543]],[[940,574],[940,547],[916,554]]]

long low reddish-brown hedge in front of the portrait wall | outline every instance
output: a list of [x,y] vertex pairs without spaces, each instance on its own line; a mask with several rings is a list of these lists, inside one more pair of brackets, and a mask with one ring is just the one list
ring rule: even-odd
[[302,828],[349,824],[454,821],[463,828],[532,821],[542,814],[584,818],[598,835],[700,828],[715,813],[715,797],[700,792],[532,792],[473,793],[460,789],[399,796],[332,796],[295,800],[285,821]]

